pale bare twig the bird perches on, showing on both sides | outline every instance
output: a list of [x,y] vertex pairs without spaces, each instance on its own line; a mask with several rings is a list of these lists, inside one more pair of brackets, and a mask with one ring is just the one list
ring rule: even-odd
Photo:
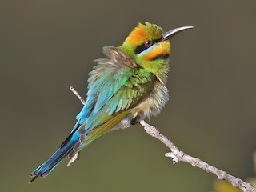
[[[74,95],[78,97],[82,104],[85,105],[86,101],[78,94],[76,90],[74,90],[72,86],[70,86],[70,90],[73,92]],[[137,122],[144,127],[144,130],[147,134],[150,134],[152,137],[157,138],[170,149],[170,152],[166,153],[166,157],[172,158],[174,164],[177,162],[187,162],[191,166],[195,166],[201,168],[202,170],[205,170],[206,172],[215,174],[218,179],[226,180],[227,182],[230,182],[234,187],[237,187],[245,192],[256,192],[256,188],[250,183],[244,182],[240,178],[236,178],[233,175],[227,174],[225,171],[219,170],[214,166],[210,166],[208,163],[203,162],[199,158],[194,158],[188,154],[185,154],[182,150],[179,150],[173,142],[166,138],[166,136],[161,134],[157,128],[155,128],[154,126],[150,126],[150,124],[145,122],[143,119],[138,118]]]

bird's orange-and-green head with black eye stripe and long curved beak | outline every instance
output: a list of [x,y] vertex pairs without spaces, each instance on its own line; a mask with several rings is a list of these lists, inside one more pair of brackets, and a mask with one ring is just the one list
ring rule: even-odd
[[145,25],[138,23],[119,48],[142,68],[156,75],[166,74],[171,47],[169,39],[174,34],[190,28],[193,27],[182,26],[165,33],[160,26],[150,22]]

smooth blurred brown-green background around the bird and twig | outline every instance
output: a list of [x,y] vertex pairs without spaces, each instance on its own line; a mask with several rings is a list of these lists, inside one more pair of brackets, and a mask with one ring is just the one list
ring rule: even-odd
[[138,22],[171,39],[170,102],[150,124],[187,154],[254,176],[256,1],[0,2],[1,191],[210,191],[216,178],[180,162],[141,126],[111,132],[65,159],[48,178],[28,175],[63,142],[103,46],[119,46]]

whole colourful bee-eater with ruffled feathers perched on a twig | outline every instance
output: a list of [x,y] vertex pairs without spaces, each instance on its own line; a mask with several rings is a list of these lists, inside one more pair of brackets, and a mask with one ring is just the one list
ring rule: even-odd
[[94,61],[86,104],[74,128],[58,150],[30,174],[30,182],[39,175],[45,178],[66,156],[77,157],[83,147],[102,134],[129,127],[136,118],[159,114],[169,99],[169,40],[190,28],[182,26],[165,33],[160,26],[139,23],[122,46],[104,47],[106,58]]

